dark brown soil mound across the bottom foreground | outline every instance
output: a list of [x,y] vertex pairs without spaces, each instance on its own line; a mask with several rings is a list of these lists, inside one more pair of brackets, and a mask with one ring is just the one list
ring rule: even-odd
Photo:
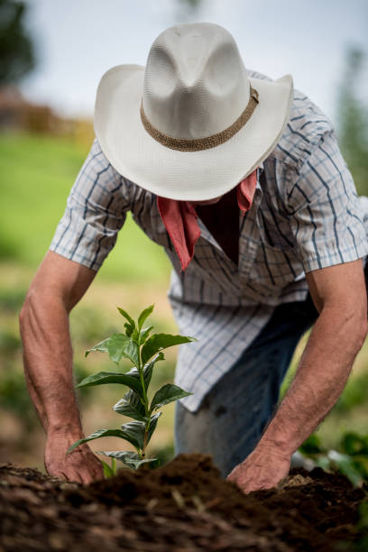
[[353,550],[363,496],[319,469],[245,496],[205,455],[87,486],[0,465],[0,551]]

